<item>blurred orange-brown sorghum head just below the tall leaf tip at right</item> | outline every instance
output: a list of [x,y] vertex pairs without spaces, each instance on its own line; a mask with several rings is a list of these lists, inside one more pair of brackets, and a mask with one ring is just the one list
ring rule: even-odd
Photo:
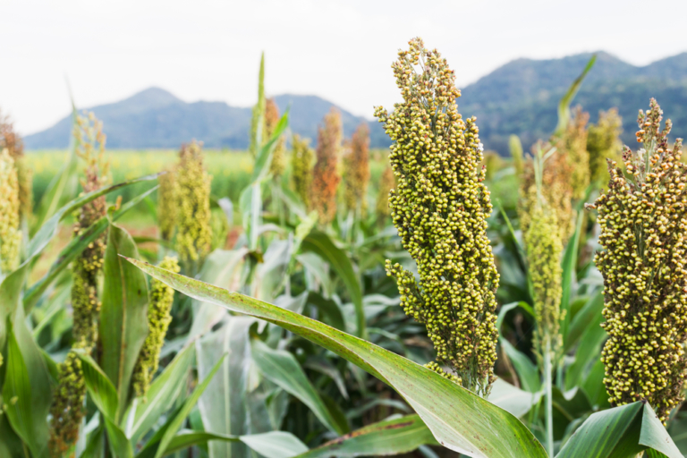
[[582,199],[589,186],[588,121],[589,113],[582,112],[580,106],[576,107],[563,139],[556,144],[564,151],[571,167],[569,180],[573,188],[573,199]]

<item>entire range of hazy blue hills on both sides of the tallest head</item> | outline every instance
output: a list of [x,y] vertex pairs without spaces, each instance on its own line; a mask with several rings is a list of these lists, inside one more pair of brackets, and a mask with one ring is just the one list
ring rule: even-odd
[[[458,99],[463,115],[476,115],[485,148],[508,153],[508,137],[515,133],[526,148],[546,139],[556,127],[556,106],[591,54],[562,59],[517,59],[462,88]],[[674,122],[674,136],[687,137],[687,53],[637,67],[613,55],[598,53],[597,64],[582,83],[573,105],[580,104],[598,118],[599,110],[617,107],[623,116],[623,140],[632,145],[637,111],[657,98],[666,117]],[[318,124],[331,102],[316,96],[276,96],[284,111],[291,107],[291,129],[317,142]],[[339,108],[344,134],[369,123],[371,145],[388,146],[381,124]],[[224,102],[186,103],[164,89],[150,88],[114,104],[89,108],[103,123],[109,148],[177,148],[191,139],[211,148],[248,148],[250,108]],[[26,137],[27,148],[66,148],[70,120]]]

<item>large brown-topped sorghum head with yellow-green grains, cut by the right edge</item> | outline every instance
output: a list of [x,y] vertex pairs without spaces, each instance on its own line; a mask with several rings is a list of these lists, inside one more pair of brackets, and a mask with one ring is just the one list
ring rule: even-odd
[[668,145],[653,98],[640,111],[641,148],[623,150],[624,171],[609,161],[608,191],[591,208],[601,226],[595,262],[604,276],[601,353],[614,405],[649,401],[660,420],[684,399],[687,360],[687,168],[682,140]]

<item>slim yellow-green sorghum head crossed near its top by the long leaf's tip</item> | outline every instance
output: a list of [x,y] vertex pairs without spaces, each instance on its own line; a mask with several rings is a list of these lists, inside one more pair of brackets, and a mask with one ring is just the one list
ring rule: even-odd
[[[179,272],[176,258],[165,257],[159,266],[165,270]],[[174,289],[153,278],[150,280],[150,304],[148,305],[148,336],[140,349],[139,359],[133,369],[131,383],[137,396],[145,396],[148,386],[157,372],[162,345],[165,344],[167,328],[172,322],[170,310],[174,302]]]

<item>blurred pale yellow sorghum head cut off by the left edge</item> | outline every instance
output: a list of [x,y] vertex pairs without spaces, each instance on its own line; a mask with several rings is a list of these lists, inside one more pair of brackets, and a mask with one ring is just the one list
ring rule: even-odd
[[19,266],[19,181],[7,148],[0,150],[0,278]]

